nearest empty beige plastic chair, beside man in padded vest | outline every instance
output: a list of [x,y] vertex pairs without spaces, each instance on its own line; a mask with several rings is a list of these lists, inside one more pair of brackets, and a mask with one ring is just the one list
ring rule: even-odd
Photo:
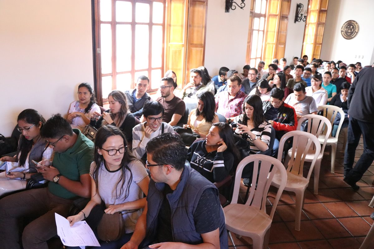
[[[240,180],[242,177],[243,168],[250,162],[254,162],[252,187],[246,203],[238,204],[237,199],[239,195]],[[257,174],[258,171],[259,174]],[[270,215],[267,215],[265,206],[266,196],[269,192],[270,183],[275,175],[278,176],[280,184]],[[226,228],[229,231],[231,240],[232,236],[230,231],[240,236],[251,237],[253,240],[254,249],[267,248],[267,243],[269,240],[269,228],[272,224],[273,215],[279,198],[281,197],[283,189],[286,185],[286,181],[286,169],[282,163],[275,158],[256,154],[247,156],[240,161],[236,169],[234,192],[231,204],[223,208],[226,217]]]

